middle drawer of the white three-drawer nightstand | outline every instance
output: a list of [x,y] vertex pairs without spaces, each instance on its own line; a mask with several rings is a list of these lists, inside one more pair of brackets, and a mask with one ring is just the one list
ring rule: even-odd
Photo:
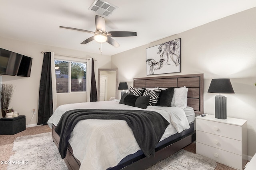
[[[230,139],[211,133],[196,131],[196,142],[242,155],[242,141]],[[232,144],[232,145],[231,145]]]

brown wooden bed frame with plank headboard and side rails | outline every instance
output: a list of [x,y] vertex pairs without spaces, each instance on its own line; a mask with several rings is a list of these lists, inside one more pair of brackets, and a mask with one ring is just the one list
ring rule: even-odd
[[[203,114],[204,112],[204,74],[186,74],[176,76],[157,76],[134,78],[134,87],[188,87],[188,106],[193,107],[196,114]],[[52,125],[52,139],[54,143],[59,146],[60,137],[54,131],[55,126]],[[144,170],[156,162],[167,158],[171,154],[186,147],[196,139],[196,133],[193,131],[188,135],[182,136],[174,141],[167,143],[155,149],[155,156],[147,158],[144,154],[132,160],[124,162],[113,168],[113,170]],[[67,154],[64,158],[69,170],[78,170],[80,168],[80,161],[74,157],[72,147],[68,144]]]

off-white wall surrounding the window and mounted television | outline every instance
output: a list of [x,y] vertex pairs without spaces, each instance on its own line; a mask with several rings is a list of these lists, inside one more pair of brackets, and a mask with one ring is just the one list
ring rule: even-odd
[[[9,107],[13,107],[20,115],[26,115],[26,125],[32,118],[32,109],[36,109],[36,116],[29,123],[36,124],[38,120],[38,96],[39,84],[44,55],[41,51],[50,51],[58,55],[66,55],[80,58],[94,58],[94,70],[96,84],[98,84],[98,68],[110,68],[111,57],[106,55],[86,53],[59,47],[51,47],[35,43],[27,43],[13,39],[0,37],[0,48],[14,51],[28,57],[32,57],[32,69],[30,77],[2,76],[2,83],[13,84],[15,87]],[[68,103],[86,102],[86,93],[57,94],[57,106]],[[2,117],[2,114],[0,114]]]

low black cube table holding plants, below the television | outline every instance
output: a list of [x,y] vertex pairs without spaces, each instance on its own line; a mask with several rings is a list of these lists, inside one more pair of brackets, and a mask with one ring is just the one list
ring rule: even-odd
[[26,129],[26,116],[0,119],[0,135],[14,135]]

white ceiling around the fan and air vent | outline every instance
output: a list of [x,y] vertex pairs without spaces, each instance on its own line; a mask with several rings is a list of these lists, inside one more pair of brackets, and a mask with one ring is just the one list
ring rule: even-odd
[[[102,43],[102,54],[114,55],[181,33],[199,25],[256,7],[256,0],[106,0],[118,6],[106,19],[106,31],[136,31],[137,37],[113,37],[120,47]],[[80,45],[95,31],[94,0],[0,0],[0,37],[90,53],[100,43]]]

